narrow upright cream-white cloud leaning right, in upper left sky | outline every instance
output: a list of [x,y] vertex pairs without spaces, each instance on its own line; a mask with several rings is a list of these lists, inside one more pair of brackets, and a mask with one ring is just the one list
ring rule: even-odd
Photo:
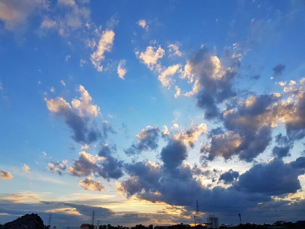
[[97,69],[97,71],[101,72],[103,70],[103,66],[101,65],[101,61],[105,59],[104,53],[110,52],[114,43],[114,31],[107,30],[104,31],[97,46],[97,50],[91,54],[91,62]]

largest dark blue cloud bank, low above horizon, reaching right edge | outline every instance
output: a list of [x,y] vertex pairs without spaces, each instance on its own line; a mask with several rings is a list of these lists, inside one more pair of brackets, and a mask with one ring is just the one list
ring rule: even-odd
[[[227,181],[235,178],[230,188],[217,186],[210,189],[201,183],[201,179],[194,176],[192,168],[187,164],[179,165],[172,172],[161,164],[145,161],[131,164],[126,170],[130,178],[121,182],[117,186],[117,191],[125,193],[128,197],[134,195],[139,199],[186,206],[186,209],[191,210],[195,210],[195,200],[199,200],[200,203],[204,203],[202,211],[208,214],[209,209],[214,206],[210,213],[219,213],[224,220],[230,216],[223,216],[223,211],[233,211],[231,206],[236,210],[235,215],[240,210],[239,207],[247,207],[250,211],[256,210],[257,214],[257,208],[260,206],[258,203],[264,206],[288,207],[289,201],[275,201],[271,196],[295,193],[301,188],[298,176],[305,172],[305,157],[299,157],[290,163],[276,159],[267,164],[257,164],[239,177],[237,172],[230,170],[229,176],[223,175]],[[199,174],[197,170],[197,175]],[[215,206],[222,206],[219,212]],[[251,219],[248,218],[249,221]]]

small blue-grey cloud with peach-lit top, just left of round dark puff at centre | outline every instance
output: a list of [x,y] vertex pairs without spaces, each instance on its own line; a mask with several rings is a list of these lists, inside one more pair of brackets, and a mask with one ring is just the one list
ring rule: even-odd
[[125,150],[127,155],[139,154],[142,151],[156,150],[158,148],[159,127],[147,126],[136,135],[138,142]]

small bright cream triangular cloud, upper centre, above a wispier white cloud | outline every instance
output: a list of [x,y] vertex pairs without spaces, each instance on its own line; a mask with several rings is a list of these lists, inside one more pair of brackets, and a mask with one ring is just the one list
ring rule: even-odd
[[158,47],[148,46],[145,52],[136,52],[135,55],[149,67],[151,70],[157,64],[158,59],[162,58],[165,55],[165,50]]

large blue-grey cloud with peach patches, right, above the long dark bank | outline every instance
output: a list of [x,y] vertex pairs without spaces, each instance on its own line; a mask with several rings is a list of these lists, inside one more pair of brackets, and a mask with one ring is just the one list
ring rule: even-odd
[[250,162],[263,153],[272,140],[272,125],[277,122],[277,113],[270,107],[278,99],[277,95],[251,96],[237,107],[224,110],[221,120],[227,131],[210,133],[210,144],[201,147],[201,159],[211,161],[221,156],[229,160],[238,155]]

